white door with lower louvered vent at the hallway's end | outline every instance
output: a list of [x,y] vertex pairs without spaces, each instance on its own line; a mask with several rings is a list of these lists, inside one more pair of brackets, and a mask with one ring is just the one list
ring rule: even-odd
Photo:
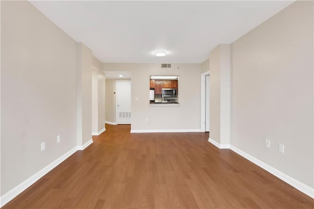
[[131,124],[131,81],[116,81],[117,124]]

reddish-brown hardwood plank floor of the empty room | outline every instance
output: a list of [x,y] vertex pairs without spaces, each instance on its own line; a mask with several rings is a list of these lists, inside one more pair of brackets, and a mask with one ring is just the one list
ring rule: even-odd
[[111,126],[3,208],[314,208],[314,200],[209,133]]

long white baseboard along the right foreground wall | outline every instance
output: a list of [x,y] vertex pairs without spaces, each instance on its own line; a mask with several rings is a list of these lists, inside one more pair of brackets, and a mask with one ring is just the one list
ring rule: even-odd
[[260,166],[262,169],[268,171],[269,173],[273,174],[274,176],[278,177],[279,179],[283,180],[284,182],[290,184],[294,188],[300,190],[304,194],[306,194],[306,195],[308,195],[314,199],[314,188],[312,188],[311,186],[308,186],[302,182],[299,182],[296,179],[293,179],[292,177],[288,176],[287,174],[284,174],[283,172],[271,167],[270,165],[262,162],[261,160],[255,158],[255,157],[253,157],[253,156],[251,156],[245,152],[243,152],[242,150],[239,150],[238,148],[236,148],[232,145],[230,146],[230,149],[232,151],[234,151],[235,153],[237,153],[238,155],[250,160],[254,164]]

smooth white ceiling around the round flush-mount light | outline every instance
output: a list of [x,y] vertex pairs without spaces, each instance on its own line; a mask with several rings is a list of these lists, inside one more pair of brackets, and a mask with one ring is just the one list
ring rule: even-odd
[[293,1],[30,2],[101,62],[202,63]]

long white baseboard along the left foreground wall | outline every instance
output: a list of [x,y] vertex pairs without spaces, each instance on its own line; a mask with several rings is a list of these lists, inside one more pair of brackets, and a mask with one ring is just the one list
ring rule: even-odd
[[66,158],[70,157],[72,154],[74,154],[78,150],[78,147],[73,148],[72,150],[68,151],[61,157],[54,160],[52,163],[26,179],[24,182],[20,183],[7,193],[3,194],[0,197],[0,207],[3,207],[5,204],[10,202],[13,198],[18,196],[20,193],[22,193],[26,188],[28,188],[30,185],[38,181],[40,178],[45,176],[49,171],[51,171],[53,168],[55,168],[57,165],[59,165],[61,162],[63,162]]

